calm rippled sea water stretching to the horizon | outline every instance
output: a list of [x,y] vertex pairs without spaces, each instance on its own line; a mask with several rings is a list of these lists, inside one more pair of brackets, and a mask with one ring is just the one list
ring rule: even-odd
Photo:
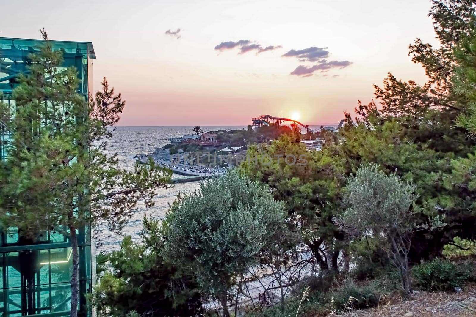
[[[149,154],[156,148],[169,144],[169,137],[179,137],[184,134],[192,134],[192,126],[119,126],[108,140],[108,154],[117,153],[119,165],[124,169],[133,169],[136,154]],[[204,130],[237,130],[246,126],[201,126]],[[160,189],[155,197],[155,206],[146,210],[143,204],[129,220],[122,231],[122,235],[130,235],[134,240],[139,239],[139,231],[142,230],[142,218],[144,213],[152,217],[161,218],[169,208],[169,203],[175,200],[179,192],[193,191],[198,188],[198,182],[178,183],[168,190]],[[108,233],[108,232],[106,232]],[[99,250],[117,250],[122,236],[112,234],[111,237],[101,238],[103,242]]]

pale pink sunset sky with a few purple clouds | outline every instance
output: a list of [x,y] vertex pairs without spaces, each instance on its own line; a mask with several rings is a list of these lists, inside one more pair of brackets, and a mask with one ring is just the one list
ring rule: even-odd
[[[15,0],[0,36],[92,42],[126,99],[119,125],[336,124],[388,72],[426,81],[408,45],[436,44],[429,0]],[[11,14],[8,14],[11,12]],[[5,14],[7,13],[7,14]]]

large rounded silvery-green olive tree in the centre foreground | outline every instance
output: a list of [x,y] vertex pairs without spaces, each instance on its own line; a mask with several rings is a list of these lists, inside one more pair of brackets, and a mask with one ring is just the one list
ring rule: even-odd
[[283,202],[267,186],[232,171],[179,195],[163,222],[164,258],[193,272],[223,316],[235,279],[257,265],[284,221]]

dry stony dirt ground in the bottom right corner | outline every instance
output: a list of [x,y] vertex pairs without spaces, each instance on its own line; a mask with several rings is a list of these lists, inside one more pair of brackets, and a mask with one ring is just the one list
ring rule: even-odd
[[380,307],[354,310],[343,317],[469,317],[476,316],[476,286],[468,286],[461,293],[419,292],[411,300],[390,298]]

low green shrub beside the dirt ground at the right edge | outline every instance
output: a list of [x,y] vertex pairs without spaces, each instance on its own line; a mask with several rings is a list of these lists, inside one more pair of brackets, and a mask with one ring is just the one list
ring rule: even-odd
[[434,259],[415,265],[412,276],[415,284],[428,290],[450,290],[474,279],[470,263],[455,264],[446,259]]

